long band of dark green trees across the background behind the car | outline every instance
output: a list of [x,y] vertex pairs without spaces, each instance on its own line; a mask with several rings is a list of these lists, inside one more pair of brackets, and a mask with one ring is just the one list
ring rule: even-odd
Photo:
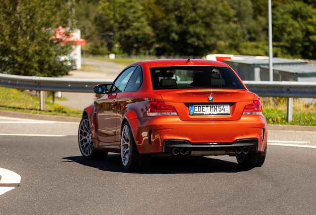
[[[117,54],[268,54],[268,0],[77,2],[78,26],[92,54],[110,53],[101,36],[110,32]],[[272,0],[274,56],[315,58],[312,7],[315,0]],[[294,10],[306,14],[296,19]]]

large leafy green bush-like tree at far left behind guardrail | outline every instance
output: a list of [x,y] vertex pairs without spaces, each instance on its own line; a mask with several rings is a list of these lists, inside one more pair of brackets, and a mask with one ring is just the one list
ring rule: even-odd
[[53,29],[72,17],[68,0],[1,0],[0,55],[14,62],[14,74],[56,77],[71,69],[61,56],[71,44],[56,42]]

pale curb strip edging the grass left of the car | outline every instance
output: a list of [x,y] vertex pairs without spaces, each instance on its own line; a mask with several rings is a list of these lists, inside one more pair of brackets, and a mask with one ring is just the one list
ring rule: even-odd
[[0,116],[25,118],[25,119],[36,119],[36,120],[48,120],[48,121],[78,122],[78,123],[81,120],[81,117],[23,113],[23,112],[15,112],[15,111],[8,111],[8,110],[0,110]]

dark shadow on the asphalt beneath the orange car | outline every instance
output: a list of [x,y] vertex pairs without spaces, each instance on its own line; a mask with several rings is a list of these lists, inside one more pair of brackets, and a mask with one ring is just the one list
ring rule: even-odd
[[[109,154],[104,160],[86,160],[82,156],[65,157],[84,166],[110,172],[126,172],[119,154]],[[64,161],[67,162],[67,161]],[[177,157],[152,157],[150,167],[143,172],[126,172],[138,174],[192,174],[192,173],[237,173],[249,171],[251,168],[241,168],[237,162],[230,162],[211,157],[200,159],[182,159]]]

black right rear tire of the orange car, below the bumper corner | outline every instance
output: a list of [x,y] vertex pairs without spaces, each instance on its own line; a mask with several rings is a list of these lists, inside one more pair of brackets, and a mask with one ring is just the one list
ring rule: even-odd
[[237,162],[241,167],[260,167],[263,165],[267,154],[267,145],[263,152],[249,152],[247,154],[236,154]]

